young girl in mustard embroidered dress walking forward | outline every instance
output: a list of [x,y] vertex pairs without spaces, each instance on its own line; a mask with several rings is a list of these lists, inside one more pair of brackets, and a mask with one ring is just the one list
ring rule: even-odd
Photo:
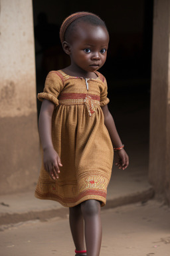
[[108,110],[106,79],[98,72],[109,34],[100,17],[79,12],[64,20],[60,40],[71,63],[48,73],[38,95],[42,167],[35,196],[69,207],[76,256],[98,256],[100,207],[106,204],[114,151],[120,169],[129,164]]

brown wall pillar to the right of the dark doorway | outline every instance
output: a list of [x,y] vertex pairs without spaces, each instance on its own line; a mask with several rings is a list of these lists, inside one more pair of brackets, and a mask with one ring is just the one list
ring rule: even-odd
[[170,0],[155,0],[149,181],[170,203]]

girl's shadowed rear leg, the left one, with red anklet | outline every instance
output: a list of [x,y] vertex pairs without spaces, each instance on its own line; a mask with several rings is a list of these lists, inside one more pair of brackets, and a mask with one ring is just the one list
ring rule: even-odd
[[[77,251],[85,251],[84,245],[84,219],[82,216],[81,206],[76,205],[69,208],[69,221],[72,238]],[[86,253],[84,253],[86,255]]]

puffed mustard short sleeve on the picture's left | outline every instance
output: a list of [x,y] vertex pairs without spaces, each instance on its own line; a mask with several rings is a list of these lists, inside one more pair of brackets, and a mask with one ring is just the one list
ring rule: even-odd
[[63,83],[60,77],[55,73],[55,71],[50,71],[48,73],[43,93],[38,93],[37,98],[39,101],[43,101],[43,99],[48,99],[48,101],[52,101],[54,105],[58,106],[58,95],[60,91],[63,89]]

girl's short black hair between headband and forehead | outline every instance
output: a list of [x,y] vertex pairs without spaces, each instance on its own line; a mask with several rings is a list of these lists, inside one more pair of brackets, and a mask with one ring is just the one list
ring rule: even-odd
[[[69,41],[70,36],[75,31],[76,26],[80,22],[88,23],[88,24],[94,25],[94,26],[105,27],[107,29],[105,22],[102,19],[100,19],[100,17],[95,16],[95,15],[94,16],[93,15],[86,15],[86,16],[83,16],[83,17],[79,17],[78,19],[73,21],[68,26],[68,28],[66,29],[66,31],[64,33],[64,41]],[[108,31],[108,29],[107,29],[107,31]]]

